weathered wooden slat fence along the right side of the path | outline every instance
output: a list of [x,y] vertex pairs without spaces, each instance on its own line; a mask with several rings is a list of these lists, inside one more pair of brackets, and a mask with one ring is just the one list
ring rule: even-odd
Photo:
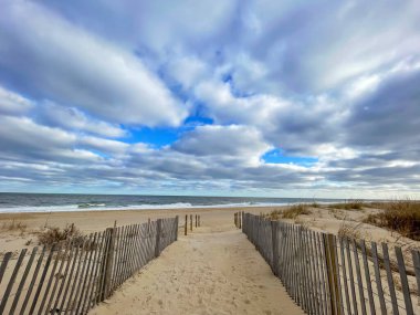
[[391,251],[386,243],[340,239],[250,213],[241,221],[307,314],[420,314],[419,251]]

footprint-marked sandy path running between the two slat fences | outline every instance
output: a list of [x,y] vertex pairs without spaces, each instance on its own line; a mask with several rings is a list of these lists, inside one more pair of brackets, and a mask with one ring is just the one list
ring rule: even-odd
[[304,314],[245,235],[200,228],[90,314]]

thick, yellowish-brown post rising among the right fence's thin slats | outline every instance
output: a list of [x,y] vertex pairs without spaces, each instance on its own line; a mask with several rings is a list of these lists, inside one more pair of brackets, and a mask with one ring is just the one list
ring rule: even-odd
[[328,276],[328,287],[329,287],[329,294],[330,294],[330,309],[333,315],[340,315],[340,308],[339,308],[339,286],[338,286],[338,265],[337,265],[337,258],[336,258],[336,251],[335,248],[336,243],[334,242],[334,235],[333,234],[324,234],[324,252],[325,252],[325,263],[326,263],[326,271]]

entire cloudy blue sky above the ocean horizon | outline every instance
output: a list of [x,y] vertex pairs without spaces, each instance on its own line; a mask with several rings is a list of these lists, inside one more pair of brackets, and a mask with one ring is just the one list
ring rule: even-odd
[[420,198],[418,0],[0,7],[0,191]]

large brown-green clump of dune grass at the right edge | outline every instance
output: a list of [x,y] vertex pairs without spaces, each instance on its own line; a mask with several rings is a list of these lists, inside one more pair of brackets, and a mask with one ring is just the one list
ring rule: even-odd
[[399,232],[401,235],[420,241],[420,202],[398,200],[384,202],[382,211],[369,214],[364,222]]

